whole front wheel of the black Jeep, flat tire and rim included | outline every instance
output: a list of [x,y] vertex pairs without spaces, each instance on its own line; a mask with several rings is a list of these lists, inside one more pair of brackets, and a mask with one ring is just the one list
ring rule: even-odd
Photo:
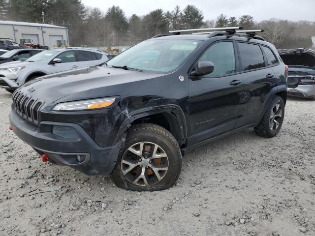
[[128,129],[111,177],[120,188],[157,191],[170,188],[181,168],[182,154],[174,136],[161,126],[143,123]]

